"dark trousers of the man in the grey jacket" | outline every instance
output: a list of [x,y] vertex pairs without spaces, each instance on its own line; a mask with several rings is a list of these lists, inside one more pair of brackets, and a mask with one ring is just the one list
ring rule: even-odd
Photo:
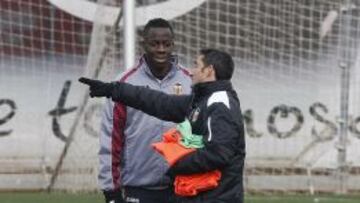
[[141,187],[125,187],[124,203],[172,203],[171,189],[152,190]]

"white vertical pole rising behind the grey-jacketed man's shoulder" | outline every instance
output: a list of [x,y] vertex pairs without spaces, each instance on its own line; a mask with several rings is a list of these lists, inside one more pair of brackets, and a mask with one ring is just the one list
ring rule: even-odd
[[124,66],[132,68],[135,62],[135,0],[124,0]]

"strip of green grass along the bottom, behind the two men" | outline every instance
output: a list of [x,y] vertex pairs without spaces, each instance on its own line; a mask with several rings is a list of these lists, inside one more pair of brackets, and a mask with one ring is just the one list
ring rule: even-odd
[[[103,203],[101,194],[0,193],[0,203]],[[360,196],[246,196],[245,203],[360,203]]]

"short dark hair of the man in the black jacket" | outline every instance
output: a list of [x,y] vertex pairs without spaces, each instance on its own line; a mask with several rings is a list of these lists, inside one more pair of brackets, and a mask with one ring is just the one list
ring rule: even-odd
[[217,80],[230,80],[234,72],[234,61],[230,54],[216,49],[202,49],[205,65],[212,65]]

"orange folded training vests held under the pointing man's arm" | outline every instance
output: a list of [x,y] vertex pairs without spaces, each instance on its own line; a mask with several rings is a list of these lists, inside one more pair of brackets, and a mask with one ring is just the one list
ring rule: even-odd
[[[181,133],[172,128],[163,134],[162,142],[154,143],[152,146],[172,166],[180,158],[196,150],[181,145],[181,138]],[[195,196],[199,192],[216,188],[220,178],[221,172],[219,170],[191,175],[177,175],[174,182],[175,194],[179,196]]]

